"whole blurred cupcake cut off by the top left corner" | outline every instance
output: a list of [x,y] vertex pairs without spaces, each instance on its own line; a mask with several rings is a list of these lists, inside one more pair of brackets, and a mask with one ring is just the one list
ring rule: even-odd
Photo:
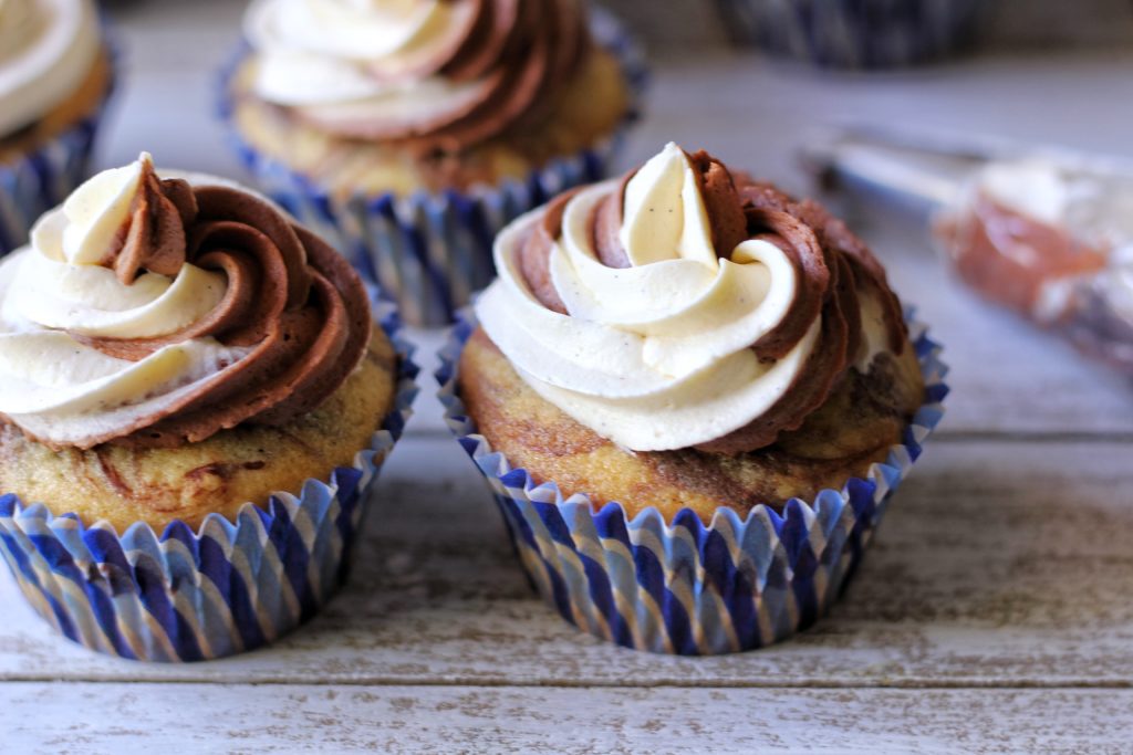
[[112,62],[91,0],[0,0],[0,255],[86,177]]

